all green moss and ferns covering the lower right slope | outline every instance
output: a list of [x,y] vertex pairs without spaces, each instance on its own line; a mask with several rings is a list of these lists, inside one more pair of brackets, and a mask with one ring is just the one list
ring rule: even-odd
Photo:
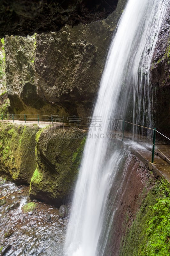
[[120,256],[166,256],[170,252],[170,187],[157,182],[127,229]]

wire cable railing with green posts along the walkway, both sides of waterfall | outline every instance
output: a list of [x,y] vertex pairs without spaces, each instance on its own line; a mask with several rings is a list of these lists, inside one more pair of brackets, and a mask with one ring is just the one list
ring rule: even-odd
[[[1,114],[0,115],[0,121],[1,122],[5,122],[5,121],[12,121],[14,122],[28,122],[28,123],[38,123],[38,124],[56,124],[58,123],[60,125],[60,127],[64,127],[65,126],[71,126],[72,128],[80,128],[81,129],[88,129],[90,127],[90,123],[93,120],[93,116],[88,116],[88,117],[82,117],[82,116],[63,116],[63,115],[43,115],[43,114]],[[98,118],[98,122],[102,122],[99,121],[99,117]],[[96,118],[96,122],[97,122],[97,118]],[[101,117],[100,117],[101,118]],[[119,119],[119,118],[118,118]],[[141,140],[141,138],[144,138],[144,132],[142,130],[142,132],[136,132],[133,131],[129,132],[130,128],[128,127],[128,131],[125,131],[125,124],[128,125],[134,125],[135,127],[140,127],[142,129],[148,129],[150,131],[153,131],[153,134],[151,134],[150,132],[150,140],[152,140],[152,146],[150,146],[149,149],[151,149],[152,147],[152,159],[151,159],[151,163],[153,163],[154,161],[154,155],[157,154],[158,156],[160,156],[161,158],[163,158],[164,160],[166,160],[169,164],[170,164],[170,156],[166,156],[167,154],[164,152],[162,152],[162,148],[158,148],[158,145],[155,144],[156,141],[156,132],[158,132],[159,135],[163,136],[163,138],[165,138],[166,140],[170,140],[170,138],[168,138],[167,136],[165,136],[164,134],[162,134],[161,132],[159,132],[158,130],[156,130],[156,128],[151,128],[151,127],[146,127],[143,125],[139,125],[139,124],[133,124],[131,122],[125,121],[121,118],[121,120],[117,120],[118,122],[122,121],[122,141],[124,140],[125,137],[125,132],[128,134],[128,138],[130,137],[130,134],[132,134],[132,140],[136,139],[137,136],[138,138]],[[121,122],[120,122],[121,123]],[[141,135],[142,133],[142,135]],[[147,134],[147,132],[146,132]],[[148,138],[146,138],[147,143],[149,143]],[[139,143],[139,142],[138,142]],[[167,143],[168,144],[168,143]],[[155,150],[156,147],[156,150]],[[157,151],[158,150],[158,151]],[[169,154],[170,150],[167,151],[167,153]]]

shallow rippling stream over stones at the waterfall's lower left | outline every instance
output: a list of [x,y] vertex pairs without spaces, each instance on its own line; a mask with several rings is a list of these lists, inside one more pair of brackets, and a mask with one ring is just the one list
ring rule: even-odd
[[[0,178],[0,198],[5,196],[6,204],[0,207],[0,248],[11,245],[5,256],[12,255],[63,255],[63,243],[68,217],[61,219],[58,209],[43,202],[36,202],[31,215],[23,213],[22,205],[31,202],[29,187],[17,186]],[[16,209],[9,207],[20,202]],[[31,213],[31,212],[30,212]],[[51,220],[47,220],[47,216]],[[4,234],[12,229],[14,233],[8,238]]]

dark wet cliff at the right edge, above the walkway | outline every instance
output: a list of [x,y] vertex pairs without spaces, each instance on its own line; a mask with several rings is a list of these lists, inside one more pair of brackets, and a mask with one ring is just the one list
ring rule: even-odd
[[160,28],[151,65],[151,84],[156,89],[156,125],[170,134],[170,8]]

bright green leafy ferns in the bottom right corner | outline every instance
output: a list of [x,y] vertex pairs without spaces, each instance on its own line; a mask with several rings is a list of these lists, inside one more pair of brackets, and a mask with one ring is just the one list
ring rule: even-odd
[[162,180],[157,203],[150,206],[152,218],[146,229],[146,243],[140,246],[140,256],[166,256],[170,252],[170,189]]

